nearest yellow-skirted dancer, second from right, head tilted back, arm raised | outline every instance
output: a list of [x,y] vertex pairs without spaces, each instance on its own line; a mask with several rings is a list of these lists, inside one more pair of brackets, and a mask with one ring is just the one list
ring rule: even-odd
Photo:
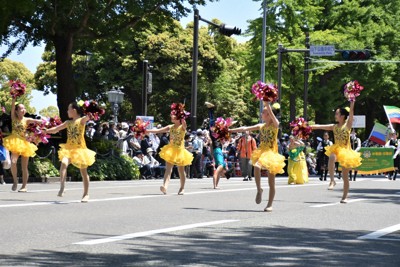
[[272,211],[272,202],[275,197],[275,175],[284,173],[285,157],[278,153],[278,130],[279,121],[275,116],[279,108],[270,106],[269,102],[264,102],[262,119],[264,123],[254,126],[240,127],[231,129],[231,132],[260,131],[260,146],[251,155],[251,162],[254,166],[254,177],[257,186],[256,203],[260,204],[262,200],[261,188],[261,169],[268,171],[269,198],[264,211]]

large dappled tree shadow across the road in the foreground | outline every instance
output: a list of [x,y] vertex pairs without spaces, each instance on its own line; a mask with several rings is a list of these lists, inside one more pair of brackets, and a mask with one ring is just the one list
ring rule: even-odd
[[[399,266],[399,242],[357,240],[365,232],[232,227],[160,234],[76,252],[0,255],[1,266]],[[110,248],[117,248],[113,253]],[[63,248],[64,249],[64,248]]]

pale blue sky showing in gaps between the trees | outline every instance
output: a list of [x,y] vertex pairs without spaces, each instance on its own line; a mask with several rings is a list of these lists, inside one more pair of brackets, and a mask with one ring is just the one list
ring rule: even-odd
[[[248,27],[248,20],[255,19],[261,16],[261,2],[254,2],[253,0],[219,0],[218,2],[207,3],[205,6],[197,6],[200,16],[207,20],[214,18],[219,19],[221,22],[239,27],[242,33]],[[193,21],[193,12],[187,17],[181,19],[182,25],[186,25]],[[200,22],[200,26],[207,25]],[[238,42],[244,42],[248,38],[242,36],[232,36]],[[4,52],[6,48],[0,47],[0,53]],[[44,45],[33,47],[28,46],[24,52],[18,55],[16,52],[10,55],[10,59],[24,63],[24,65],[34,73],[36,67],[42,62],[41,56],[44,50]],[[41,109],[49,105],[57,106],[57,99],[55,95],[43,96],[42,92],[34,91],[32,93],[32,106],[39,112]]]

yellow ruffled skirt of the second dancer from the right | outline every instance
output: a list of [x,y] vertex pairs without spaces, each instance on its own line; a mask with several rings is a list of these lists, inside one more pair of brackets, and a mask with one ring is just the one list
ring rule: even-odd
[[259,164],[262,169],[267,170],[271,174],[284,173],[285,157],[272,150],[257,148],[251,154],[251,162],[253,165]]

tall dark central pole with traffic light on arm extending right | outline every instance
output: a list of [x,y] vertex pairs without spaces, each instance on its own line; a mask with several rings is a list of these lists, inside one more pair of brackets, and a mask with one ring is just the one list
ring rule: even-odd
[[226,24],[218,25],[212,21],[203,19],[200,17],[199,10],[194,8],[194,25],[193,25],[193,72],[192,72],[192,99],[191,99],[191,129],[195,131],[197,129],[197,62],[199,60],[199,21],[204,21],[209,25],[212,25],[219,29],[219,32],[226,36],[232,34],[241,34],[242,30],[229,26]]

